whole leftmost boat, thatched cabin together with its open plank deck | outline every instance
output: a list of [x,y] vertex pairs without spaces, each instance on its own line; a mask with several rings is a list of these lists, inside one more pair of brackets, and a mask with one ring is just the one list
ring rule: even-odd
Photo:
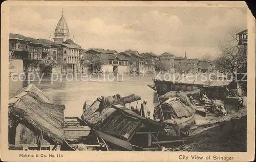
[[9,149],[106,150],[86,122],[64,117],[64,110],[33,84],[16,92],[9,99]]

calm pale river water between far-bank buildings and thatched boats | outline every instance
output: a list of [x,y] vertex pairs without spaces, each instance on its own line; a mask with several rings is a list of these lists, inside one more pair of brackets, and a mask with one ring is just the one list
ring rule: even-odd
[[[119,75],[117,78],[112,74],[101,74],[98,76],[69,75],[61,78],[54,75],[53,77],[42,78],[40,83],[37,76],[31,75],[30,79],[25,76],[20,76],[20,78],[13,76],[9,77],[9,97],[17,90],[32,83],[44,92],[53,103],[64,104],[66,106],[65,116],[80,117],[83,103],[86,100],[94,101],[97,97],[115,94],[120,94],[122,97],[136,94],[141,97],[141,101],[148,100],[147,107],[152,116],[154,105],[157,104],[158,100],[156,93],[147,84],[153,84],[153,76],[154,74],[144,76],[125,74]],[[33,80],[33,78],[35,79]],[[141,101],[138,103],[138,109]],[[131,103],[131,106],[136,107],[136,103]]]

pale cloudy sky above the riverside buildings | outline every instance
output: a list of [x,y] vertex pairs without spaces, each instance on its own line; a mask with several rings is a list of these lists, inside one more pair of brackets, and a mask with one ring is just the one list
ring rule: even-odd
[[[83,48],[168,51],[176,56],[216,56],[227,34],[246,29],[246,8],[224,7],[64,7],[70,37]],[[10,7],[10,33],[48,39],[62,7]]]

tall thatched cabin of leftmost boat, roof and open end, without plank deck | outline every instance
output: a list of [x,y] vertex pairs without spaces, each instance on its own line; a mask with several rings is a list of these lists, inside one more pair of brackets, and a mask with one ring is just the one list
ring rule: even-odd
[[9,148],[58,150],[65,139],[64,110],[33,84],[17,91],[9,99]]

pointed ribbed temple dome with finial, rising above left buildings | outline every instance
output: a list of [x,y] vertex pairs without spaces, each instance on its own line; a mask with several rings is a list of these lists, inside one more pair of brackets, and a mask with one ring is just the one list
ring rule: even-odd
[[65,20],[65,17],[63,15],[63,8],[62,8],[62,15],[59,19],[59,22],[57,23],[53,39],[54,39],[54,42],[61,43],[63,42],[64,38],[69,38],[69,28]]

